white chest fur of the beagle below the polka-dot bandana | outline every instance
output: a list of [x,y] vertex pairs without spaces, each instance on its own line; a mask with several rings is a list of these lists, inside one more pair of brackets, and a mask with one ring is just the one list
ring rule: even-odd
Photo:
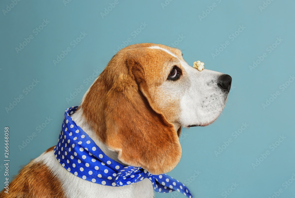
[[[39,158],[39,159],[38,159]],[[141,182],[130,184],[122,187],[104,186],[95,184],[79,177],[63,168],[56,160],[53,151],[45,153],[38,157],[42,160],[60,180],[63,192],[68,198],[152,198],[154,189],[149,179],[143,179]],[[37,160],[36,159],[36,160]]]

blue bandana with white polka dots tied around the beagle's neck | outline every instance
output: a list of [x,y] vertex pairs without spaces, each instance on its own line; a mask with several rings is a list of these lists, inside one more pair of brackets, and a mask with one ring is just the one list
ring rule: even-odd
[[177,190],[189,198],[189,189],[176,179],[166,175],[153,175],[141,167],[132,167],[112,160],[102,152],[89,135],[71,118],[78,106],[65,111],[65,119],[54,147],[58,162],[72,174],[89,182],[107,186],[126,186],[149,178],[156,192]]

